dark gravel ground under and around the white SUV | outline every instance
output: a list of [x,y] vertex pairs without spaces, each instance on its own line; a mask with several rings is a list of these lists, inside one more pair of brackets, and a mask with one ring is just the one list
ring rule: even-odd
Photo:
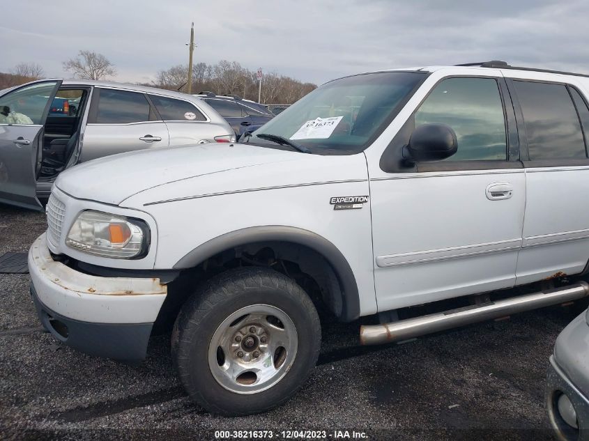
[[[26,251],[42,213],[0,205],[0,255]],[[128,366],[41,332],[28,274],[0,274],[0,436],[8,439],[215,439],[215,430],[363,432],[365,439],[549,440],[544,373],[560,330],[583,305],[552,307],[404,345],[358,346],[359,323],[323,332],[319,366],[265,415],[222,418],[176,381],[169,336]],[[332,436],[330,439],[334,439]]]

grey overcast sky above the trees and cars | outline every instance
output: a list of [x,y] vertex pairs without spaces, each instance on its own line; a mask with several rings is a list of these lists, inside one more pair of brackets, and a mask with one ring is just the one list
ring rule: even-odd
[[238,61],[321,84],[367,70],[505,60],[589,73],[589,2],[544,0],[28,0],[2,2],[0,72],[36,62],[69,77],[79,49],[116,65],[117,81]]

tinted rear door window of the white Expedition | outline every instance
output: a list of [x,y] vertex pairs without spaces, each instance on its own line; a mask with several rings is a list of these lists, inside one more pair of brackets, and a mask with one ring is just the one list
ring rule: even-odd
[[513,82],[528,138],[530,160],[587,157],[581,123],[564,84]]

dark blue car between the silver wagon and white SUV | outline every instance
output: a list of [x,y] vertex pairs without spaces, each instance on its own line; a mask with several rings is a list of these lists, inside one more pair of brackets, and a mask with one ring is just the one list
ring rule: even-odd
[[212,92],[202,92],[195,96],[202,98],[227,120],[235,131],[237,139],[243,133],[257,130],[274,118],[274,114],[268,111],[266,106],[254,101],[243,100],[238,95],[223,96],[215,95]]

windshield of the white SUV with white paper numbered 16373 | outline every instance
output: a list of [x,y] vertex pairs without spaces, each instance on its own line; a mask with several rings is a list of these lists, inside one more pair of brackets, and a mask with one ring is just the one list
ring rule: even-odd
[[[315,89],[253,132],[273,134],[331,154],[363,150],[410,98],[427,72],[377,72],[337,79]],[[327,153],[327,152],[326,152]]]

